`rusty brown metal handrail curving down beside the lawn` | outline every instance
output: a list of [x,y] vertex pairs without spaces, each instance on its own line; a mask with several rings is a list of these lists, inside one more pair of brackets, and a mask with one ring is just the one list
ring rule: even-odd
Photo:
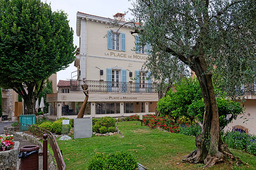
[[54,154],[54,158],[57,162],[58,170],[66,170],[66,164],[62,157],[58,143],[57,143],[56,139],[54,138],[52,132],[50,132],[46,129],[43,129],[41,127],[37,127],[34,125],[28,125],[28,124],[24,124],[24,123],[18,123],[18,122],[15,123],[14,129],[18,130],[20,132],[23,132],[23,133],[27,133],[27,134],[36,136],[36,137],[40,138],[41,140],[44,140],[43,135],[47,134],[48,135],[47,141],[48,141],[48,144],[50,144],[51,148],[53,149],[53,154]]

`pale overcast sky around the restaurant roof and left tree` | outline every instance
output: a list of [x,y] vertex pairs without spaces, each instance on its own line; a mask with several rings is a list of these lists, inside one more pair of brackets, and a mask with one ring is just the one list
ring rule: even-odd
[[[52,11],[63,10],[68,14],[69,25],[74,30],[74,45],[79,46],[79,37],[76,36],[76,12],[84,12],[91,15],[113,19],[117,12],[124,13],[128,8],[132,8],[131,1],[128,0],[41,0],[51,3]],[[126,21],[132,18],[130,12],[125,16]],[[76,71],[74,62],[65,69],[57,72],[57,83],[59,80],[71,78],[71,72]],[[75,76],[73,73],[72,76]],[[74,77],[75,78],[75,77]]]

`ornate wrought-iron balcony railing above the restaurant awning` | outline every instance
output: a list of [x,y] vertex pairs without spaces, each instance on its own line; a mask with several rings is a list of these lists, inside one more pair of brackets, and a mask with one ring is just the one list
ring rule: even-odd
[[[85,80],[90,93],[157,93],[157,84]],[[70,80],[70,91],[82,92],[83,80]]]

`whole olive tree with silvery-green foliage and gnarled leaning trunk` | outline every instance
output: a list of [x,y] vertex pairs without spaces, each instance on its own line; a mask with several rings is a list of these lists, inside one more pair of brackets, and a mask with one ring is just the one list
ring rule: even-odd
[[[221,139],[213,70],[229,90],[255,80],[255,0],[136,0],[131,9],[141,43],[165,51],[195,72],[204,101],[202,133],[197,149],[183,161],[237,161]],[[231,82],[232,81],[232,82]]]

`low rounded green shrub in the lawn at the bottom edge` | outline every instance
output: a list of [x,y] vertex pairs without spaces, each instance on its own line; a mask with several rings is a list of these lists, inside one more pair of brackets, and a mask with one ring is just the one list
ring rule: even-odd
[[136,170],[137,161],[127,152],[116,152],[110,155],[96,153],[88,162],[88,170]]

